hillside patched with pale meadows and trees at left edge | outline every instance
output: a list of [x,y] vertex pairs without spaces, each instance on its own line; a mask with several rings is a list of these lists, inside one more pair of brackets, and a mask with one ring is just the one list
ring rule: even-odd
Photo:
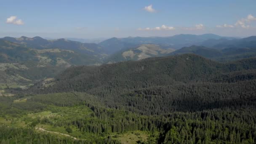
[[72,65],[92,65],[94,56],[71,50],[32,49],[18,43],[0,40],[0,88],[19,87],[35,80],[54,77]]

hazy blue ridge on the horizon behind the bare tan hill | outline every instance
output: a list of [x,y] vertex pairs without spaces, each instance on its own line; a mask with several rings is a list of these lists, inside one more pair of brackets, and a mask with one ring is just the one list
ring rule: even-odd
[[219,35],[204,34],[204,35],[174,35],[170,37],[124,37],[124,38],[110,38],[99,43],[101,47],[109,54],[115,53],[127,48],[138,47],[142,44],[165,45],[168,48],[179,49],[185,46],[198,45],[205,40],[213,39],[235,39],[233,37],[221,37]]

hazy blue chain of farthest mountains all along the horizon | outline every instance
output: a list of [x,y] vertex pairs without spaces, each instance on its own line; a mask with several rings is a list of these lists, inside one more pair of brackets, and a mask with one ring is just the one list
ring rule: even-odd
[[[201,45],[207,40],[234,40],[234,37],[222,37],[214,34],[204,34],[204,35],[189,35],[180,34],[170,37],[124,37],[117,38],[112,37],[107,40],[101,41],[100,43],[81,43],[78,41],[83,41],[82,39],[69,38],[67,39],[56,39],[56,40],[46,40],[42,37],[3,37],[3,40],[8,40],[14,43],[20,43],[24,46],[44,49],[44,48],[60,48],[72,51],[79,51],[82,53],[93,54],[96,56],[106,54],[113,54],[117,51],[121,51],[128,48],[139,47],[142,44],[155,44],[161,45],[161,48],[173,48],[179,49],[191,45]],[[75,41],[73,41],[75,40]],[[216,42],[217,43],[217,42]],[[101,56],[100,56],[101,57]],[[103,56],[104,57],[104,56]]]

